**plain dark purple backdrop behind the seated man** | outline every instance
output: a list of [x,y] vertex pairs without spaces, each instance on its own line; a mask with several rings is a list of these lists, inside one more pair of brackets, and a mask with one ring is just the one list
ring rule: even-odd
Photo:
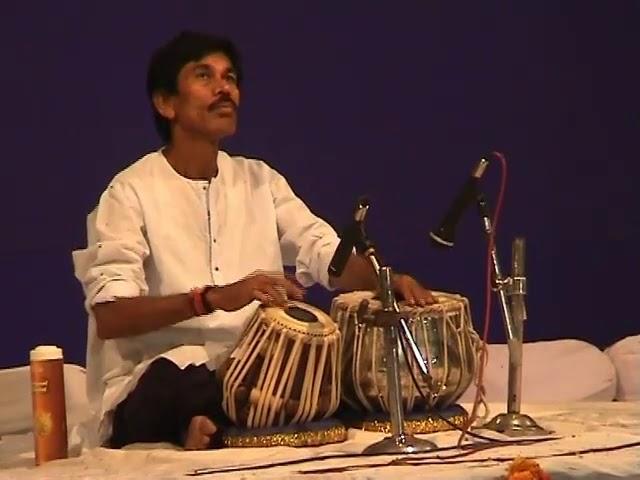
[[[0,367],[39,343],[84,363],[71,250],[109,179],[159,145],[146,63],[182,28],[230,35],[244,53],[227,148],[266,159],[336,227],[369,193],[385,258],[467,295],[478,330],[479,219],[465,215],[452,251],[432,249],[427,233],[498,149],[509,160],[505,268],[512,238],[528,242],[526,337],[604,347],[638,333],[638,2],[119,3],[3,5]],[[494,163],[491,200],[498,178]],[[503,338],[496,310],[492,340]]]

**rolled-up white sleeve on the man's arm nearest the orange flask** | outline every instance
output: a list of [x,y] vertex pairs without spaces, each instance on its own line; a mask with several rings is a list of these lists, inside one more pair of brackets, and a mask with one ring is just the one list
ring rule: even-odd
[[89,245],[73,255],[76,277],[82,283],[87,305],[146,295],[143,264],[149,246],[134,189],[114,181],[102,194],[87,229]]

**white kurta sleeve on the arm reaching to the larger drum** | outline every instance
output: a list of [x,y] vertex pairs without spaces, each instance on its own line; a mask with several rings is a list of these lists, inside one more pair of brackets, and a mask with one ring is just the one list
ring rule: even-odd
[[331,289],[327,270],[340,238],[295,195],[282,175],[275,170],[271,175],[284,264],[296,267],[296,278],[303,286],[317,282]]

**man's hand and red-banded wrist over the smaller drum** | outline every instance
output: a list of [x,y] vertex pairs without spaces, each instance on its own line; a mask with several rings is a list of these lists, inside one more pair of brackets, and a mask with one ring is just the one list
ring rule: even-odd
[[235,283],[207,290],[206,301],[214,309],[232,312],[254,300],[269,307],[284,307],[287,298],[302,300],[303,296],[304,290],[282,273],[257,271]]

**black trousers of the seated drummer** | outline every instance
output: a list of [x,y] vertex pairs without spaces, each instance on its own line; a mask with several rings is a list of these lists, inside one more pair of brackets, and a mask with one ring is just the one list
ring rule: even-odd
[[116,407],[112,448],[136,442],[169,442],[184,446],[191,419],[205,415],[218,427],[211,448],[221,446],[230,424],[222,410],[222,388],[206,365],[184,370],[166,358],[154,360],[136,387]]

